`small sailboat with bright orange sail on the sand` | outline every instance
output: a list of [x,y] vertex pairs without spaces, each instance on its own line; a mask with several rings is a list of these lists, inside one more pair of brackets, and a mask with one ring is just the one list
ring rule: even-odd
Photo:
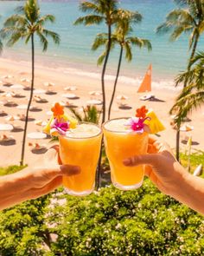
[[[137,93],[146,93],[151,91],[151,73],[152,73],[152,65],[150,64],[149,68],[147,69],[146,74],[143,77],[143,82],[141,83]],[[143,95],[140,97],[141,101],[150,100],[150,98],[154,97],[154,95],[148,94]]]

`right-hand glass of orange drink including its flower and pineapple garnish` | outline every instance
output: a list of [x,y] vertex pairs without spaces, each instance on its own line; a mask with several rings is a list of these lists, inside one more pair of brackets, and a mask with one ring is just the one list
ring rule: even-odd
[[156,114],[145,106],[137,108],[131,118],[117,118],[103,125],[112,184],[122,190],[131,190],[143,184],[143,165],[125,167],[124,159],[147,154],[149,134],[163,130]]

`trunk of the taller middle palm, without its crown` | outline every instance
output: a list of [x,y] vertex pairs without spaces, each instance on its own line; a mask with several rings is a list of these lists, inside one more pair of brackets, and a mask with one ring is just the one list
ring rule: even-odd
[[105,61],[102,69],[102,75],[101,75],[101,89],[103,94],[103,113],[102,113],[102,123],[105,122],[105,70],[108,62],[108,57],[110,54],[112,45],[112,26],[108,25],[108,45],[106,49],[106,55],[105,55]]

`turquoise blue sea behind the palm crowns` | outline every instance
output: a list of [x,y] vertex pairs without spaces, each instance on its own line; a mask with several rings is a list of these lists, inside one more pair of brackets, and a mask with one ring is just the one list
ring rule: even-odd
[[[14,13],[17,6],[23,2],[0,2],[1,18],[0,26],[6,17]],[[101,67],[97,67],[97,58],[103,49],[92,52],[91,46],[94,37],[101,32],[106,32],[105,25],[84,27],[73,26],[73,22],[84,14],[79,10],[78,0],[70,1],[40,1],[41,15],[53,14],[56,17],[54,24],[48,24],[47,28],[54,30],[61,36],[60,46],[49,43],[48,51],[41,52],[41,45],[35,42],[35,61],[46,67],[64,69],[65,72],[75,72],[94,76],[99,75]],[[134,26],[132,36],[140,36],[149,39],[152,43],[152,51],[147,49],[132,48],[132,62],[122,63],[121,76],[124,80],[141,79],[149,64],[153,66],[153,80],[155,82],[173,81],[175,75],[182,72],[188,61],[188,35],[183,35],[175,43],[169,42],[169,36],[156,35],[156,27],[163,23],[170,10],[175,9],[175,3],[171,0],[121,0],[120,6],[128,10],[137,10],[143,15],[143,22]],[[204,38],[202,36],[198,49],[203,49]],[[116,73],[118,65],[119,49],[112,51],[107,73],[109,77]],[[3,57],[28,62],[30,60],[30,45],[23,42],[8,49],[4,47]]]

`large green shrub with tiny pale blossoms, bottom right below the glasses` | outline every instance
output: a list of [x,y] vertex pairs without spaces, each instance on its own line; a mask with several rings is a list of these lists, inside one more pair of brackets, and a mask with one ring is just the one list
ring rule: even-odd
[[[101,188],[86,198],[64,195],[49,222],[61,255],[203,255],[204,218],[150,181],[136,191]],[[56,224],[57,223],[57,224]]]

